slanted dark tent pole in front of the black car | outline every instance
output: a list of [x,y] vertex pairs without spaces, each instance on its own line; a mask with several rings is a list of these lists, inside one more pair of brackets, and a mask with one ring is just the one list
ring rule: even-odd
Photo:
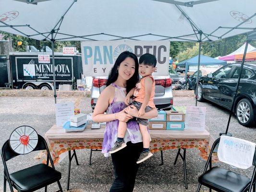
[[227,128],[226,128],[226,132],[225,132],[225,133],[219,133],[219,135],[232,136],[232,134],[229,133],[228,130],[229,130],[229,125],[230,125],[230,120],[231,120],[231,117],[232,117],[233,109],[234,109],[234,106],[235,106],[235,97],[236,97],[236,95],[237,95],[238,86],[239,86],[240,79],[241,79],[241,76],[242,76],[242,71],[243,71],[243,68],[244,68],[244,61],[245,61],[245,56],[246,56],[246,52],[247,52],[247,48],[248,48],[249,41],[250,41],[250,40],[247,40],[247,41],[246,41],[246,44],[245,44],[244,56],[243,56],[243,60],[242,60],[242,63],[241,63],[241,71],[240,71],[240,74],[239,74],[239,77],[238,77],[238,80],[237,80],[236,89],[235,89],[235,94],[234,94],[234,96],[233,96],[232,107],[231,107],[231,110],[230,110],[230,115],[229,115],[229,120],[228,120],[228,125],[227,125]]

